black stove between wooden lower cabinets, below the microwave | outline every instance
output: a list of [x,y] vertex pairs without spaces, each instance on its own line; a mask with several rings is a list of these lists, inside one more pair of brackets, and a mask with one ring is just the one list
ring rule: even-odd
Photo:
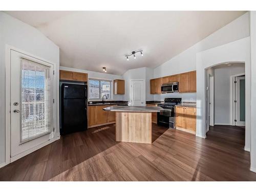
[[164,98],[164,103],[157,105],[164,109],[157,114],[157,124],[174,129],[175,105],[181,104],[181,100],[181,98]]

